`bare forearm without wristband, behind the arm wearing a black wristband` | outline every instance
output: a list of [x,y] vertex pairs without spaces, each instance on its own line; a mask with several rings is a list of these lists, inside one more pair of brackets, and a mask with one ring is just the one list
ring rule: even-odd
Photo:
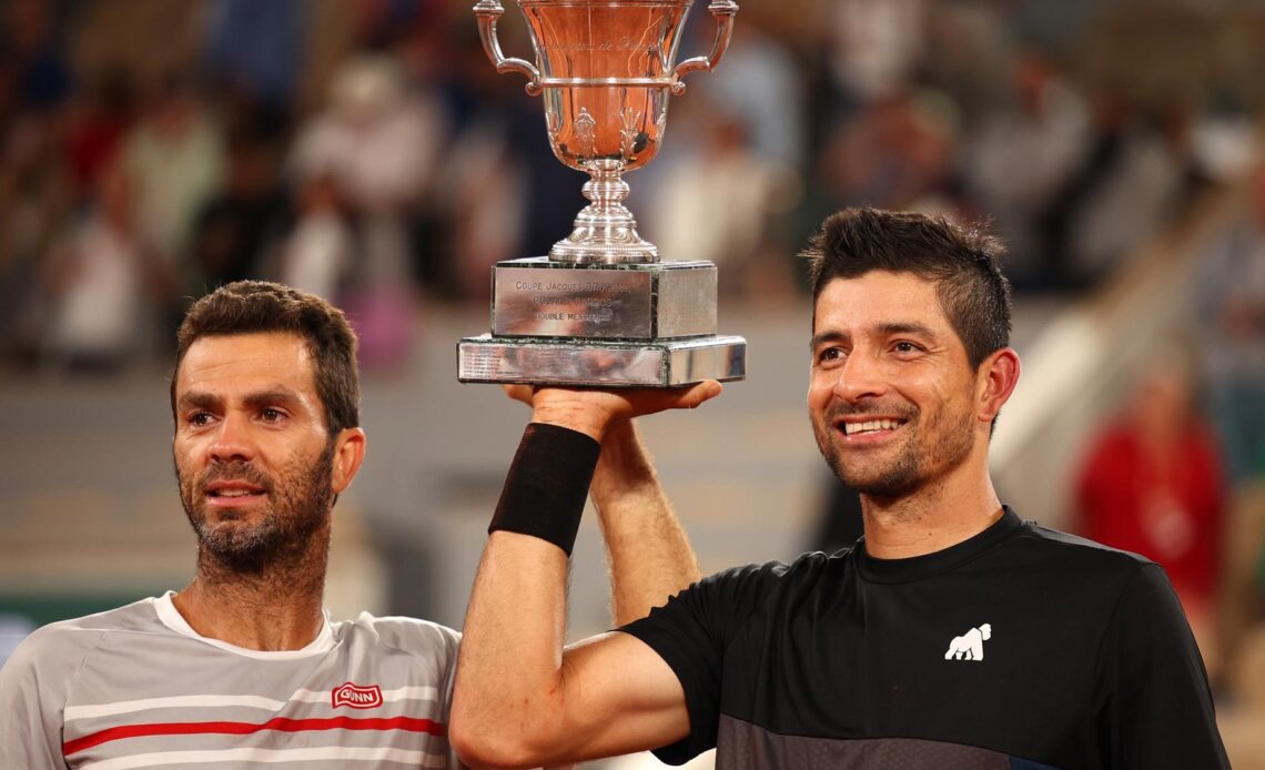
[[611,609],[622,626],[698,580],[698,563],[631,421],[612,424],[589,488],[611,568]]

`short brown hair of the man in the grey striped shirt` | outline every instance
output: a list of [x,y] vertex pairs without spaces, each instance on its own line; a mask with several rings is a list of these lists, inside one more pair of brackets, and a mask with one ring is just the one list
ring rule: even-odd
[[176,333],[171,408],[176,377],[188,348],[204,336],[281,331],[304,339],[316,364],[316,394],[330,436],[361,424],[361,376],[355,331],[343,311],[316,295],[267,281],[235,281],[206,295],[185,315]]

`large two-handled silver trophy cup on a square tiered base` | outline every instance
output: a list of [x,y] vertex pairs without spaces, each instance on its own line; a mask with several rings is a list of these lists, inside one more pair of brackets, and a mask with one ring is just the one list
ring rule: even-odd
[[624,206],[624,172],[659,152],[682,76],[729,47],[734,0],[712,0],[711,54],[673,66],[693,0],[517,0],[536,53],[507,58],[500,0],[474,6],[496,71],[544,95],[554,154],[588,172],[576,229],[548,257],[492,268],[492,331],[458,344],[460,382],[672,387],[741,379],[746,340],[716,334],[716,266],[660,262]]

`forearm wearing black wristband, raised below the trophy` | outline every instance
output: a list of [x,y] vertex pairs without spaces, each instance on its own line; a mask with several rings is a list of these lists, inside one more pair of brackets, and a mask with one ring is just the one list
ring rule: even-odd
[[555,427],[524,435],[466,616],[452,738],[467,761],[538,764],[564,713],[562,647],[574,526],[598,445]]

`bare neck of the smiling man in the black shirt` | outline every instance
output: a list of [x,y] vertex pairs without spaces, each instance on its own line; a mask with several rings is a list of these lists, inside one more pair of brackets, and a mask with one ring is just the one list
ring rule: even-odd
[[951,547],[1002,517],[1002,503],[987,473],[950,478],[897,498],[861,496],[865,553],[875,559],[910,559]]

